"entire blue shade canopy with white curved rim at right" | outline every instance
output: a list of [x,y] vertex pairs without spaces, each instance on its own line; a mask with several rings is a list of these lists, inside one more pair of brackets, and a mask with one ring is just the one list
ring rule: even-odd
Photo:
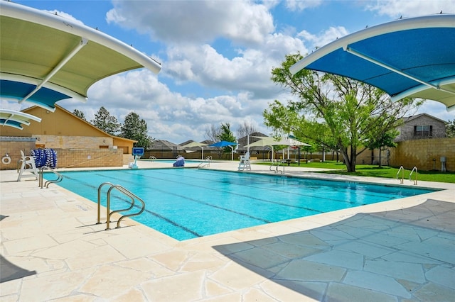
[[431,99],[455,110],[455,14],[406,18],[365,28],[292,65],[376,86],[392,96]]

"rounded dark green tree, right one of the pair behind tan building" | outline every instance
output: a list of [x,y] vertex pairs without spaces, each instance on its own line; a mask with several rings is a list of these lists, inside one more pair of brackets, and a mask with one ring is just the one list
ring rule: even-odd
[[125,116],[125,121],[121,127],[122,138],[137,140],[134,147],[144,147],[145,150],[150,148],[153,138],[147,134],[147,123],[144,119],[139,118],[139,115],[130,112]]

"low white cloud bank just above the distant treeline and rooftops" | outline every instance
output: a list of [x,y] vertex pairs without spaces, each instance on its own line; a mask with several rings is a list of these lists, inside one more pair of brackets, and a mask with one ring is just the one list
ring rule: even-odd
[[[84,112],[87,121],[95,118],[101,106],[120,123],[134,111],[146,121],[153,138],[177,143],[203,140],[205,130],[213,124],[230,123],[233,131],[245,120],[254,121],[254,125],[262,124],[262,110],[267,105],[264,100],[252,101],[249,93],[188,98],[170,91],[145,69],[97,82],[88,96],[86,104],[74,100],[58,104],[71,112],[75,108]],[[263,125],[260,129],[267,133]]]

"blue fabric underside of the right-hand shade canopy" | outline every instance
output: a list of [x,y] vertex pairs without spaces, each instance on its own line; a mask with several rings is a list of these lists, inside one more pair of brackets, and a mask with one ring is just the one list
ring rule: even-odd
[[[448,39],[454,35],[455,28],[402,30],[361,40],[349,47],[368,57],[377,58],[385,65],[410,73],[424,82],[434,82],[455,75],[455,39]],[[351,55],[343,48],[306,68],[350,77],[376,86],[391,96],[421,85],[413,79]]]

